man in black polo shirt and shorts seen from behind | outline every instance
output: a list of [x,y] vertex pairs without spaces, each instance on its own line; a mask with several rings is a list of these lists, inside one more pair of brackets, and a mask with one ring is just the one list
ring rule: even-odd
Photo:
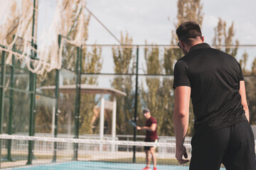
[[188,159],[183,142],[190,98],[195,115],[190,170],[255,170],[255,140],[250,127],[245,81],[234,57],[203,43],[195,22],[176,30],[185,56],[174,67],[176,159]]

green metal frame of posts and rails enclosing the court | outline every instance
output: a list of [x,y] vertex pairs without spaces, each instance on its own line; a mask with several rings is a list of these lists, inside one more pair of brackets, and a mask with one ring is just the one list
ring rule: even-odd
[[[33,36],[33,30],[34,30],[34,25],[35,25],[35,0],[34,0],[34,6],[33,6],[33,28],[32,28],[32,36]],[[72,30],[72,28],[70,29],[70,31]],[[69,35],[69,34],[68,34]],[[68,35],[67,36],[63,36],[63,35],[58,35],[58,42],[59,42],[59,46],[60,46],[60,41],[62,38],[66,38],[68,39]],[[33,36],[34,37],[34,36]],[[6,49],[7,47],[4,47],[4,45],[0,45],[2,48]],[[33,42],[33,39],[31,40],[31,46],[36,48],[36,44]],[[75,138],[79,137],[79,120],[80,120],[80,94],[82,93],[83,89],[82,89],[82,84],[81,84],[81,75],[84,74],[82,73],[82,49],[86,46],[98,46],[98,47],[125,47],[125,48],[137,48],[136,51],[136,73],[134,74],[107,74],[107,75],[129,75],[129,76],[135,76],[136,77],[136,84],[135,84],[135,95],[134,95],[134,123],[136,123],[137,121],[137,96],[138,96],[138,77],[140,75],[149,75],[149,74],[139,74],[138,73],[138,63],[139,63],[139,47],[172,47],[172,48],[178,48],[176,45],[81,45],[80,47],[76,47],[77,50],[77,60],[76,60],[76,69],[75,69],[75,74],[77,75],[77,79],[75,82],[75,85],[73,85],[72,90],[75,91]],[[236,45],[221,45],[218,47],[237,47]],[[256,45],[239,45],[239,47],[256,47]],[[22,54],[21,51],[18,51],[14,48],[12,49],[14,52],[18,52],[20,54]],[[33,60],[38,60],[37,58],[37,54],[36,52],[31,52],[30,55],[31,59]],[[3,115],[4,115],[4,98],[9,98],[9,103],[10,103],[10,109],[9,109],[9,120],[8,120],[8,125],[7,125],[7,132],[9,135],[12,134],[12,117],[13,117],[13,110],[12,110],[12,106],[13,106],[13,96],[14,96],[14,91],[21,91],[24,93],[28,93],[30,96],[30,109],[29,109],[29,128],[28,128],[28,135],[29,136],[34,136],[35,135],[35,106],[36,106],[36,95],[41,96],[42,94],[38,94],[38,92],[36,91],[36,77],[37,75],[29,72],[28,70],[26,70],[26,72],[29,72],[29,89],[28,91],[26,90],[21,90],[21,89],[16,89],[14,88],[14,75],[15,75],[15,56],[12,57],[12,64],[8,65],[11,68],[11,74],[10,74],[10,86],[6,87],[6,63],[5,63],[5,59],[6,59],[6,52],[4,50],[1,51],[1,82],[0,82],[0,134],[2,134],[3,132]],[[31,64],[31,67],[33,67],[33,65]],[[18,68],[21,69],[21,68]],[[92,74],[100,74],[100,75],[106,75],[106,74],[102,74],[102,73],[92,73]],[[154,76],[170,76],[170,75],[166,75],[166,74],[153,74]],[[150,74],[149,76],[152,76],[152,74]],[[63,90],[63,87],[59,85],[59,80],[60,80],[60,70],[56,69],[55,70],[55,86],[52,87],[52,89],[55,91],[55,96],[51,97],[51,96],[47,96],[50,98],[55,98],[55,100],[57,102],[55,102],[55,118],[54,118],[54,137],[58,136],[58,114],[59,114],[59,106],[58,106],[58,99],[59,99],[59,94],[60,91]],[[8,89],[10,91],[10,96],[5,96],[5,91],[6,89]],[[95,89],[97,89],[95,87]],[[105,89],[106,90],[106,89]],[[104,91],[102,89],[102,91]],[[100,93],[104,93],[104,92],[100,92]],[[121,95],[125,95],[120,91],[115,91],[114,89],[111,89],[111,91],[114,94],[121,94]],[[103,101],[104,103],[104,101]],[[115,102],[114,102],[115,103]],[[102,114],[101,114],[102,116]],[[103,119],[101,119],[102,122]],[[114,119],[113,119],[114,120]],[[102,123],[100,123],[101,127],[102,127]],[[102,128],[101,128],[102,129]],[[112,135],[115,134],[112,133]],[[101,137],[103,137],[103,133],[102,130],[100,131],[100,135]],[[137,130],[136,128],[134,128],[134,141],[136,141],[136,136],[137,136]],[[0,147],[1,147],[1,142],[0,142]],[[56,150],[57,145],[56,142],[54,143],[54,148]],[[54,150],[54,154],[53,154],[53,162],[56,162],[56,151]],[[1,149],[0,149],[0,157],[1,157]],[[9,145],[8,145],[8,154],[7,154],[7,159],[9,161],[11,161],[11,140],[9,140]],[[74,160],[78,159],[78,145],[76,145],[74,147]],[[29,141],[28,143],[28,162],[27,164],[32,164],[32,160],[33,160],[33,142]],[[134,160],[135,162],[135,149],[134,149]],[[1,163],[1,158],[0,158],[0,163]]]

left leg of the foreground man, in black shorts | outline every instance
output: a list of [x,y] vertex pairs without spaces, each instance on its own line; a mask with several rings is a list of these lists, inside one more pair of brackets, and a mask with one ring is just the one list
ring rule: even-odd
[[223,154],[228,147],[230,128],[221,128],[192,138],[190,170],[220,169]]

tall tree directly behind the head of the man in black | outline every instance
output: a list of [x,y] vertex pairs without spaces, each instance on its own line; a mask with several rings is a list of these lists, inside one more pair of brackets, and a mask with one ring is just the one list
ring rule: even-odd
[[[203,23],[203,4],[201,0],[178,0],[177,2],[178,13],[177,13],[177,22],[174,23],[175,28],[177,28],[181,23],[185,21],[195,21],[199,26],[202,26]],[[171,31],[171,45],[176,45],[178,43],[178,38],[176,36],[175,30]],[[166,48],[164,54],[164,72],[166,74],[174,74],[174,64],[176,60],[182,57],[183,54],[178,48]],[[172,123],[173,115],[173,106],[174,106],[174,89],[171,88],[170,84],[173,84],[173,80],[166,79],[164,82],[164,91],[170,91],[169,95],[166,98],[171,98],[168,104],[166,105],[169,109],[166,111],[164,119],[169,135],[174,135],[174,128]],[[189,126],[188,126],[188,135],[193,134],[193,106],[190,105],[189,113]]]

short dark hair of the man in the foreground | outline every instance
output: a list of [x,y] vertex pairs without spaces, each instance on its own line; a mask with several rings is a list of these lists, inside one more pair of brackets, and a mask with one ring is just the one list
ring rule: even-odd
[[181,25],[176,29],[176,34],[178,35],[178,40],[186,40],[188,38],[202,36],[200,26],[194,21],[181,23]]

